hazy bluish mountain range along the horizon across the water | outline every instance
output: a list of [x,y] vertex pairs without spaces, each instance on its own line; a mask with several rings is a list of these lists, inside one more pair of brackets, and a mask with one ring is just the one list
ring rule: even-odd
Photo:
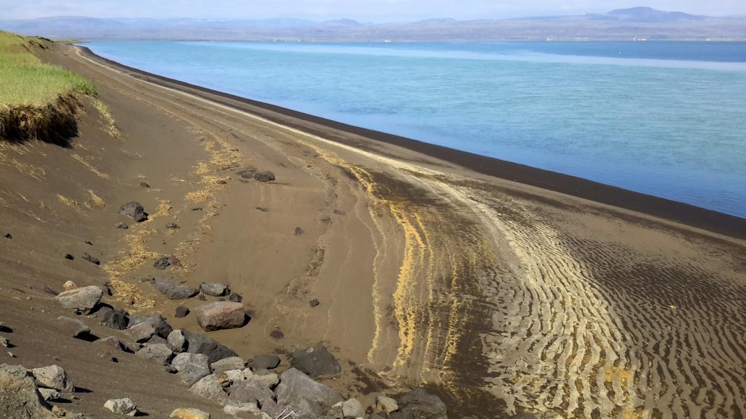
[[650,7],[518,19],[426,19],[368,23],[352,19],[97,19],[55,16],[4,20],[0,29],[81,40],[746,40],[745,16],[698,16]]

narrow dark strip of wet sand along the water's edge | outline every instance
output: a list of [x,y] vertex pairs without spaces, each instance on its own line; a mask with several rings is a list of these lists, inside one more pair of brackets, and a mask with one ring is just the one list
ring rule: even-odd
[[[498,177],[516,183],[523,183],[541,189],[548,189],[565,195],[571,195],[577,198],[610,205],[612,207],[642,212],[647,215],[653,215],[668,221],[686,224],[690,227],[709,230],[713,233],[734,237],[736,239],[746,239],[746,218],[740,218],[736,215],[729,215],[711,209],[695,207],[691,204],[671,201],[666,198],[647,195],[641,192],[633,192],[618,186],[610,186],[568,174],[534,168],[520,163],[512,163],[494,157],[486,157],[479,154],[469,153],[467,151],[447,148],[441,145],[433,145],[404,136],[397,136],[377,130],[356,127],[354,125],[336,122],[277,105],[242,98],[240,96],[231,95],[230,93],[196,86],[184,81],[178,81],[130,66],[125,66],[122,63],[95,54],[90,50],[90,48],[81,45],[75,46],[81,51],[81,54],[84,54],[93,60],[97,60],[98,62],[105,63],[107,66],[112,66],[116,69],[131,73],[134,77],[142,80],[150,81],[151,83],[160,86],[180,89],[189,92],[192,95],[197,95],[198,97],[210,101],[216,101],[219,104],[254,113],[257,116],[269,119],[272,122],[304,130],[308,133],[322,135],[323,132],[319,127],[327,129],[332,128],[333,130],[339,130],[342,133],[364,136],[376,142],[383,142],[406,148],[410,151],[415,151],[448,163],[453,163],[457,166],[471,169],[480,174],[486,174],[488,176]],[[315,128],[313,125],[319,127]],[[330,139],[337,142],[344,142],[343,139]]]

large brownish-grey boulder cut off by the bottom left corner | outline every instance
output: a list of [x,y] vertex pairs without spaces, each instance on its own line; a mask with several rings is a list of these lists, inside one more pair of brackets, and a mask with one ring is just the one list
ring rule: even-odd
[[34,379],[19,365],[0,365],[0,418],[57,419],[46,409]]

